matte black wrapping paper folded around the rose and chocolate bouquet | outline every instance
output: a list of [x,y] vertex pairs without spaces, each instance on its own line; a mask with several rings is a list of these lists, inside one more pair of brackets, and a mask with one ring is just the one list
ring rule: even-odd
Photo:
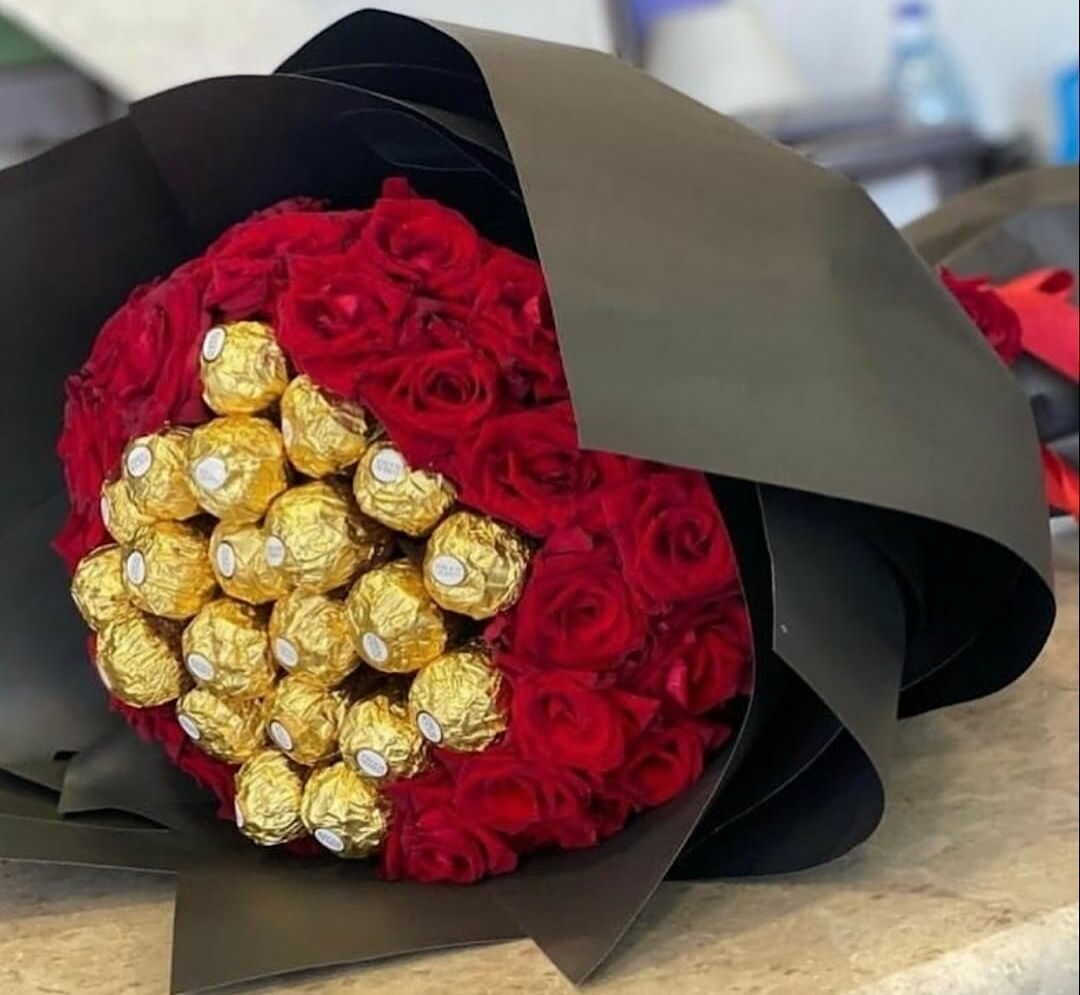
[[[464,889],[233,838],[105,711],[48,548],[63,378],[126,292],[278,199],[362,204],[393,174],[539,255],[583,445],[714,474],[755,635],[745,721],[691,791]],[[58,792],[0,794],[0,853],[111,865],[112,836],[35,851],[27,826],[164,826],[124,832],[154,834],[130,865],[178,871],[177,991],[513,936],[581,981],[673,863],[773,873],[860,843],[897,713],[1003,686],[1049,631],[1031,416],[977,332],[858,188],[608,56],[364,11],[275,76],[151,97],[0,175],[0,226],[22,468],[0,768]]]

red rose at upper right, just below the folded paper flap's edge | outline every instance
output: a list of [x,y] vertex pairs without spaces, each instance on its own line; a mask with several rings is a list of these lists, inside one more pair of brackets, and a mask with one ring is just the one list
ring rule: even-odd
[[603,503],[626,579],[654,605],[733,590],[734,552],[701,473],[656,473]]

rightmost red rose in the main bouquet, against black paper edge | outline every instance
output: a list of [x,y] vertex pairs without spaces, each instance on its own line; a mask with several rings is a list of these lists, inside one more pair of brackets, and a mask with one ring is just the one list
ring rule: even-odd
[[747,693],[750,682],[750,619],[734,594],[665,619],[663,633],[625,681],[631,690],[666,698],[691,715]]

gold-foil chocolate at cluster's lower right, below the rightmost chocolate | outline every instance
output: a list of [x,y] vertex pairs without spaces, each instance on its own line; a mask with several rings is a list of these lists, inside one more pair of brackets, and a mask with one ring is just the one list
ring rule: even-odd
[[486,650],[448,653],[413,681],[409,716],[429,741],[448,750],[483,750],[507,728],[502,677]]

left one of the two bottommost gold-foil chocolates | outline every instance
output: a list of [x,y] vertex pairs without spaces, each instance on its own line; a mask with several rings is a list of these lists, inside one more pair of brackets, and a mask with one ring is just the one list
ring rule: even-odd
[[306,835],[300,802],[308,772],[276,750],[261,750],[237,771],[237,828],[259,846]]

